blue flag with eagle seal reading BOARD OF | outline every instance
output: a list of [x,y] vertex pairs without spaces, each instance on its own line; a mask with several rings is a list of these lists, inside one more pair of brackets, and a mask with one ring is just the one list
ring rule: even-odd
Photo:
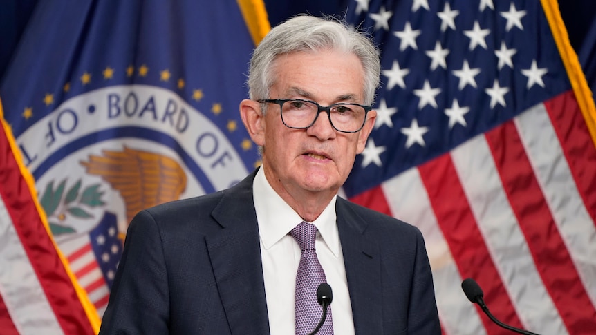
[[101,315],[136,212],[225,189],[259,163],[238,112],[254,42],[231,0],[39,1],[29,22],[4,113]]

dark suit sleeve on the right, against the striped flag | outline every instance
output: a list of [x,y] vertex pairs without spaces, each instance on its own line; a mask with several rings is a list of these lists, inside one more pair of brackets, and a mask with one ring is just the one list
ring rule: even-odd
[[408,312],[408,334],[441,334],[429,258],[424,238],[417,228],[414,267]]

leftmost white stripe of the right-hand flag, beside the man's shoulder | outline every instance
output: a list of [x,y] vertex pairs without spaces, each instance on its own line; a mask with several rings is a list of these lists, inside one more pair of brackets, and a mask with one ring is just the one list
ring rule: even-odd
[[415,224],[425,237],[441,325],[447,334],[486,334],[474,304],[461,290],[462,278],[438,226],[418,169],[412,168],[382,184],[395,218]]

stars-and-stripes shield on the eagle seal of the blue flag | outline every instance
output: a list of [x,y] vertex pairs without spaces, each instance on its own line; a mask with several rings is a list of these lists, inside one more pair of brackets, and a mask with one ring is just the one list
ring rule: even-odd
[[118,261],[122,256],[122,242],[118,239],[116,218],[105,213],[97,227],[61,243],[68,264],[79,284],[103,315],[110,296]]

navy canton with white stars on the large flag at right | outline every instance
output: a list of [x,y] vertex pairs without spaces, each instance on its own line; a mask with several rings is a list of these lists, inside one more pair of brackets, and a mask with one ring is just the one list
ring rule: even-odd
[[570,89],[539,1],[368,2],[348,20],[382,50],[382,87],[350,196]]

